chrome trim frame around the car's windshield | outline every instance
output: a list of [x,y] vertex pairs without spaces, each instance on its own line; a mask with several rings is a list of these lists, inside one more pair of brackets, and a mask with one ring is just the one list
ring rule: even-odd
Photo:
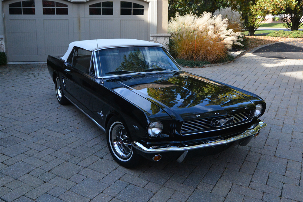
[[[124,48],[124,47],[160,47],[160,48],[164,48],[160,45],[133,45],[133,46],[114,46],[114,47],[105,47],[105,48],[99,48],[99,49],[95,49],[95,50],[92,50],[92,52],[94,53],[95,55],[95,70],[96,71],[96,78],[102,78],[99,74],[99,68],[98,68],[98,64],[97,64],[97,55],[96,55],[96,51],[100,51],[100,50],[104,50],[104,49],[109,49],[109,48]],[[164,48],[164,50],[168,53],[168,51]],[[168,53],[169,54],[169,53]],[[169,56],[171,56],[169,54]],[[181,69],[180,65],[175,61],[174,58],[171,57],[171,59],[174,60],[174,62],[178,65],[178,68]],[[175,70],[175,69],[174,69]],[[169,70],[170,72],[172,70]],[[178,71],[178,72],[184,72],[182,69],[181,70],[175,70],[175,71]],[[166,71],[144,71],[144,72],[140,72],[140,73],[159,73],[159,72],[168,72],[167,70]],[[174,72],[174,71],[172,71]],[[119,77],[119,76],[126,76],[126,75],[137,75],[137,73],[129,73],[129,74],[123,74],[123,75],[112,75],[112,76],[104,76],[103,78],[111,78],[111,77]]]

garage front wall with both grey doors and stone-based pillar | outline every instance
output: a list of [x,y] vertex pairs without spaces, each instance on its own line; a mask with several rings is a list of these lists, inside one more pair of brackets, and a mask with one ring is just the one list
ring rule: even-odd
[[46,61],[72,41],[168,42],[168,1],[1,1],[1,51],[9,62]]

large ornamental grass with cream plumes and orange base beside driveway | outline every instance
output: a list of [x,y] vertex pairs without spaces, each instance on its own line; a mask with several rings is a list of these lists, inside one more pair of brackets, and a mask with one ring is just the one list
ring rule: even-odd
[[227,30],[228,19],[204,12],[201,17],[191,13],[181,16],[176,13],[168,23],[171,33],[171,51],[178,59],[216,63],[228,58],[233,44],[241,45],[241,32]]

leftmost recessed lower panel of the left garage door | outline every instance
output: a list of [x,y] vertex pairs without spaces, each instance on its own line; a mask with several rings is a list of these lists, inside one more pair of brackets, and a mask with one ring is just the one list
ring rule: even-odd
[[8,49],[12,55],[38,55],[36,20],[10,20]]

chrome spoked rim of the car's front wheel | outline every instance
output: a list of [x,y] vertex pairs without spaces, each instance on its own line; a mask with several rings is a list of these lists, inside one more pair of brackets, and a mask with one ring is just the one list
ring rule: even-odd
[[111,141],[115,152],[120,157],[128,158],[132,154],[132,145],[122,124],[117,124],[113,127]]

